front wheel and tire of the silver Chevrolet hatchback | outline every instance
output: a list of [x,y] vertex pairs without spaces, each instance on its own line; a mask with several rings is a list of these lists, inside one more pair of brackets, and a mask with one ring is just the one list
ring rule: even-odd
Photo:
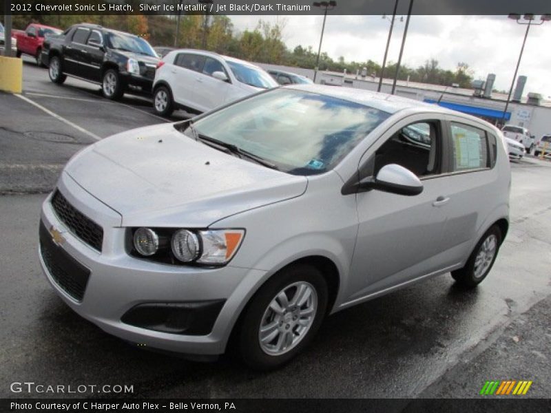
[[318,268],[300,264],[273,275],[250,301],[240,325],[239,352],[247,366],[272,370],[304,350],[322,324],[327,297]]

